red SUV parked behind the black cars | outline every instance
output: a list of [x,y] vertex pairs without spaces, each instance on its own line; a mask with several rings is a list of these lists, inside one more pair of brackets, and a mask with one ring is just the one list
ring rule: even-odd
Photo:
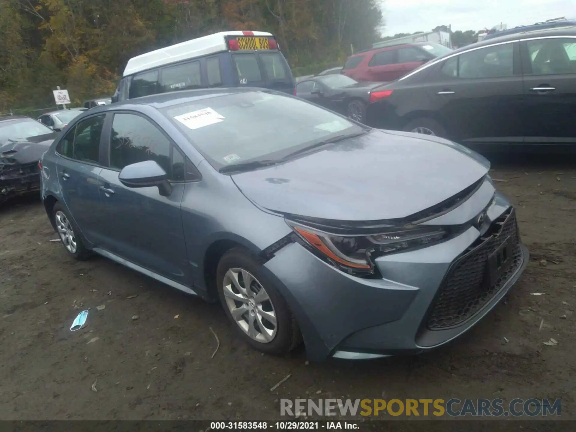
[[450,51],[434,42],[376,48],[350,56],[342,73],[356,81],[393,81]]

